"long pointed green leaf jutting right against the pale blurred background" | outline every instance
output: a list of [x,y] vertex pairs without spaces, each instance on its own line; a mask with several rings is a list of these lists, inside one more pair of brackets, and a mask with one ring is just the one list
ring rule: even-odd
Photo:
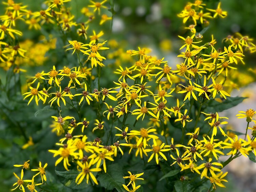
[[241,103],[245,97],[227,97],[222,103],[216,100],[210,100],[208,107],[205,109],[207,112],[222,112],[226,109],[232,108]]

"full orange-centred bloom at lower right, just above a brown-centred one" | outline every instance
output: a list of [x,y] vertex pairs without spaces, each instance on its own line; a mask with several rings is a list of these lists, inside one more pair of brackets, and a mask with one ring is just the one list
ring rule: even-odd
[[203,157],[208,156],[209,154],[213,154],[213,156],[215,157],[215,159],[218,160],[218,155],[217,155],[217,153],[224,155],[224,153],[223,153],[222,151],[220,151],[219,149],[217,149],[217,147],[221,147],[221,144],[222,144],[223,142],[220,141],[220,142],[218,142],[218,143],[215,143],[214,140],[216,140],[216,139],[213,138],[213,135],[212,135],[211,138],[209,137],[209,140],[208,140],[208,141],[206,140],[205,137],[203,137],[203,141],[202,141],[202,142],[204,142],[204,145],[203,145],[203,147],[202,147],[203,150],[201,151],[200,154],[203,154],[203,153],[206,152]]

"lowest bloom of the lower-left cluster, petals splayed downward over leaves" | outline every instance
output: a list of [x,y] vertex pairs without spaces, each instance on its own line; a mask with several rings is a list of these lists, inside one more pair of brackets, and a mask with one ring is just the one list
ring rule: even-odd
[[77,175],[75,182],[77,184],[80,184],[83,179],[86,177],[86,183],[88,184],[89,182],[89,178],[91,178],[96,184],[98,184],[98,181],[96,180],[95,176],[93,173],[91,172],[99,172],[101,171],[101,168],[90,168],[93,165],[93,159],[90,160],[90,162],[88,163],[88,161],[81,163],[80,161],[77,161],[77,165],[82,168],[81,173]]

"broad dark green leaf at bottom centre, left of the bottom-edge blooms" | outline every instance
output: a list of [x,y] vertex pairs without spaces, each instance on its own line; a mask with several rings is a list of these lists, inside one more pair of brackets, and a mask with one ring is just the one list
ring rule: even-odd
[[122,167],[117,163],[109,165],[106,173],[99,174],[98,180],[101,186],[108,190],[115,188],[118,192],[124,191],[122,184],[125,183],[125,180],[122,174]]

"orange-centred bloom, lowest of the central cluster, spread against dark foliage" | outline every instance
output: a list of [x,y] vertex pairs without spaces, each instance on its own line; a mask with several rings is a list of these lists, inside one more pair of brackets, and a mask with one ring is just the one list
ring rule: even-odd
[[147,162],[150,162],[154,155],[156,156],[156,163],[158,164],[158,158],[159,158],[159,155],[167,161],[167,158],[165,156],[165,154],[163,154],[162,152],[165,152],[165,151],[170,151],[171,149],[164,149],[166,147],[169,147],[169,145],[165,145],[165,143],[162,143],[160,146],[157,145],[156,143],[156,139],[153,139],[153,143],[154,145],[152,146],[152,149],[145,149],[146,152],[150,152],[150,151],[153,151],[152,155],[150,156],[150,158],[148,159]]

